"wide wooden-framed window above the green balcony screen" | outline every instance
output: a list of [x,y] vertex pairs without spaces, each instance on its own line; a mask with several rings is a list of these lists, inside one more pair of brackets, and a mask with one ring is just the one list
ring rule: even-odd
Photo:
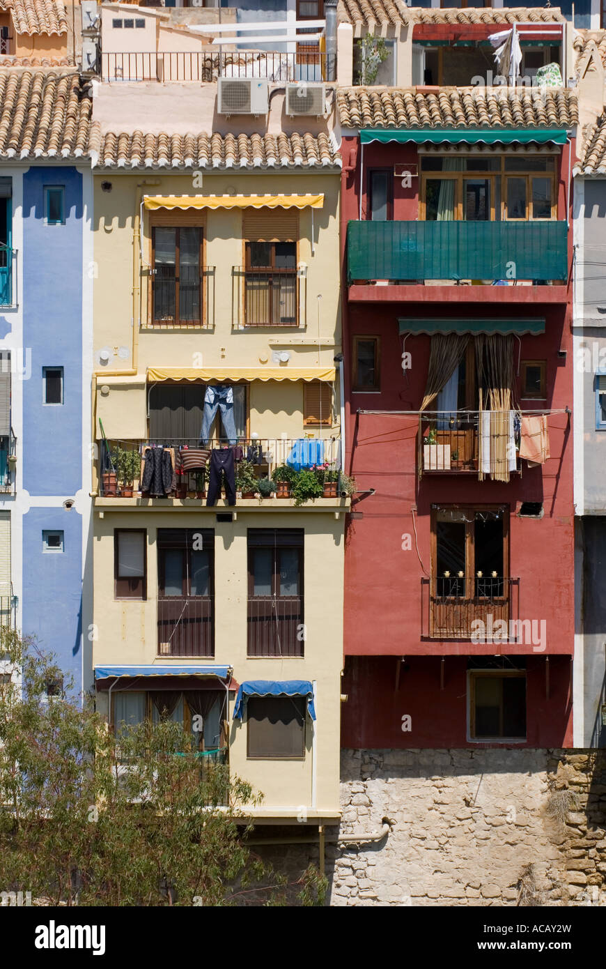
[[499,222],[556,217],[553,155],[421,156],[421,219]]

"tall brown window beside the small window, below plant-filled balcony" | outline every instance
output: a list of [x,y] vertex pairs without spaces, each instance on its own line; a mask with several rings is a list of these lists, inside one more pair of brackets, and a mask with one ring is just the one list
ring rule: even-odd
[[158,653],[214,656],[214,532],[158,529]]

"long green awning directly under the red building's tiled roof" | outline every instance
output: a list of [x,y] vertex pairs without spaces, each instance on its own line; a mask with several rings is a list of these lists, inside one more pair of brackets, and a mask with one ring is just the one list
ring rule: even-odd
[[360,141],[413,141],[415,144],[554,144],[566,143],[565,128],[363,128]]

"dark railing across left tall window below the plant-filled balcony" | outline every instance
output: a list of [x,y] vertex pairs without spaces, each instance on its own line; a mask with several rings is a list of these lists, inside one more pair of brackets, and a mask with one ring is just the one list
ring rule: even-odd
[[158,596],[158,655],[214,656],[213,596]]

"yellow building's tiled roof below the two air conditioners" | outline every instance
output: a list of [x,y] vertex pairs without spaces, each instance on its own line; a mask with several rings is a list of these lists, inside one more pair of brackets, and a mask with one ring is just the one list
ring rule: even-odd
[[341,166],[336,146],[325,134],[151,135],[136,131],[97,136],[96,129],[90,147],[93,164],[99,168],[226,170]]

